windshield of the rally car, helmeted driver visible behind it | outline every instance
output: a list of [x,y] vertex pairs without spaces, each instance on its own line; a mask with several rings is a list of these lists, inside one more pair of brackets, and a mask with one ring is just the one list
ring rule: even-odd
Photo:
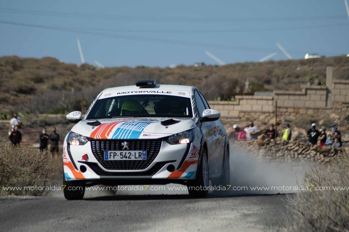
[[117,117],[193,117],[190,98],[168,95],[128,95],[99,99],[86,119]]

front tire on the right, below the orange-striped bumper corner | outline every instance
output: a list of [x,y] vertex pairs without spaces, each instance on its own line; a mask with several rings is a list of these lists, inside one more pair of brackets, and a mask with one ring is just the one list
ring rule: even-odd
[[198,167],[198,173],[195,180],[187,182],[188,192],[191,197],[203,198],[208,194],[209,170],[206,149],[201,152],[201,160]]

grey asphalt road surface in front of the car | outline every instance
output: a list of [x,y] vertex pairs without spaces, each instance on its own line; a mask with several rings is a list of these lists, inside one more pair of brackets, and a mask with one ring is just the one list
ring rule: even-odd
[[286,195],[0,198],[0,231],[278,231]]

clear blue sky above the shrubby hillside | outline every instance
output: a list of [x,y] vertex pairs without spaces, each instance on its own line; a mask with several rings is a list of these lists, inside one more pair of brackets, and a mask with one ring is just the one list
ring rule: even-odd
[[0,1],[0,56],[166,67],[349,53],[345,0]]

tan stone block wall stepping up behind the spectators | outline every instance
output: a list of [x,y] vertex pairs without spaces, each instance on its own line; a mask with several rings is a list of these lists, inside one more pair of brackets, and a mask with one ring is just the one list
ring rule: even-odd
[[302,91],[274,91],[273,96],[239,96],[236,101],[210,101],[223,118],[268,118],[277,107],[279,119],[295,120],[303,115],[349,114],[349,80],[332,80],[327,68],[326,86],[301,86]]

